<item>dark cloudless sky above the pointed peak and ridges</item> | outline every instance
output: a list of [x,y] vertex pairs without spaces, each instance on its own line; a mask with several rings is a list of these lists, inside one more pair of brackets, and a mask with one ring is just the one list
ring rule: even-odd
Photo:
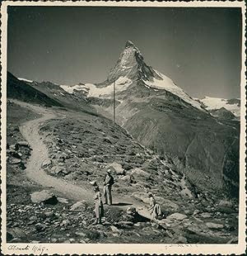
[[240,97],[240,8],[9,7],[7,69],[59,84],[102,82],[127,40],[193,97]]

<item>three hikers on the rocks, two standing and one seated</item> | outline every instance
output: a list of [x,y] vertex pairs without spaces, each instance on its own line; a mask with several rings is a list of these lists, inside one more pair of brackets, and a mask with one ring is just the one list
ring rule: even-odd
[[[107,170],[104,179],[104,187],[103,187],[103,196],[104,196],[104,204],[111,206],[112,205],[112,195],[111,189],[114,184],[114,178],[111,175],[110,169]],[[96,181],[91,182],[95,192],[95,213],[96,213],[96,222],[95,224],[102,224],[102,217],[104,216],[104,206],[101,198],[100,187],[96,183]],[[148,193],[148,197],[150,198],[150,207],[148,211],[151,214],[151,220],[156,220],[162,216],[161,206],[156,203],[156,200],[151,192]]]

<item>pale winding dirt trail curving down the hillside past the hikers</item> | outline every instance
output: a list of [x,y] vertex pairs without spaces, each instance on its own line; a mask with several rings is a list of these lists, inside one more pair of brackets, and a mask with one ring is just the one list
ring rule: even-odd
[[[43,168],[41,168],[41,164],[44,160],[49,159],[49,154],[44,142],[42,140],[42,136],[39,134],[40,124],[44,121],[53,118],[65,118],[66,116],[61,114],[59,111],[54,111],[49,108],[39,107],[36,105],[31,105],[26,102],[16,101],[16,104],[21,107],[29,108],[32,111],[35,111],[42,115],[42,117],[37,118],[32,121],[26,121],[26,123],[20,127],[21,134],[25,138],[25,140],[30,144],[32,150],[32,154],[30,159],[26,165],[26,175],[30,180],[34,181],[42,185],[43,187],[50,187],[54,192],[61,192],[64,197],[76,201],[93,201],[94,193],[91,190],[88,190],[83,187],[78,187],[72,183],[64,181],[60,178],[54,178],[49,174],[45,173]],[[143,207],[140,203],[135,201],[131,197],[121,197],[114,198],[115,202],[129,202],[132,203],[135,207]],[[127,206],[122,206],[123,208]],[[148,211],[144,208],[139,210],[139,213],[142,216],[150,217]]]

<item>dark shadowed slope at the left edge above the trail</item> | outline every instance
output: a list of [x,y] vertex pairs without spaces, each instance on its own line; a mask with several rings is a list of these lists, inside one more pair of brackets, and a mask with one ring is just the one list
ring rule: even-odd
[[58,106],[63,105],[48,97],[43,92],[32,88],[30,84],[19,80],[12,73],[7,72],[7,97],[15,98],[23,102],[33,102],[41,105]]

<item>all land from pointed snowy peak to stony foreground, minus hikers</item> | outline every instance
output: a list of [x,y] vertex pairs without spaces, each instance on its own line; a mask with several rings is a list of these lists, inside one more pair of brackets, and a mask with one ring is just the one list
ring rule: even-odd
[[[240,102],[209,111],[131,41],[103,83],[7,73],[7,97],[8,242],[237,243],[240,122],[226,107]],[[113,205],[93,225],[90,182],[102,192],[108,168]]]

